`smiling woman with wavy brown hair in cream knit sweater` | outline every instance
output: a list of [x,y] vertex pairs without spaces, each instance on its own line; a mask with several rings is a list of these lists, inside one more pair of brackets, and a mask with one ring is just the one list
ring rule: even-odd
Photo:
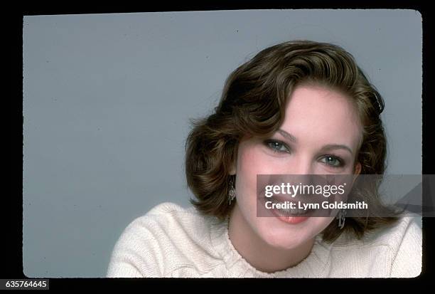
[[[266,48],[231,73],[186,142],[190,209],[163,203],[117,242],[108,277],[414,277],[410,218],[257,216],[257,174],[383,174],[383,100],[329,43]],[[363,199],[385,209],[377,185]]]

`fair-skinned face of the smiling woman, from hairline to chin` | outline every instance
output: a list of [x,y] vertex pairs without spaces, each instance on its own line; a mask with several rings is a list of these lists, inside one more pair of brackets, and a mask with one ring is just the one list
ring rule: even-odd
[[[244,138],[238,147],[237,201],[243,226],[277,248],[296,248],[321,233],[333,217],[289,223],[257,216],[257,174],[358,174],[355,164],[362,129],[358,114],[343,94],[300,85],[286,105],[284,123],[267,140]],[[331,145],[341,147],[331,148]],[[329,146],[329,147],[328,147]]]

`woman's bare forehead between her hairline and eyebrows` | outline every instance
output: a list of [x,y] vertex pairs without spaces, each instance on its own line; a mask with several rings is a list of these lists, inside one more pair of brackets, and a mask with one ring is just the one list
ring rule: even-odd
[[355,105],[337,90],[299,85],[289,97],[282,129],[318,144],[348,144],[358,148],[362,136]]

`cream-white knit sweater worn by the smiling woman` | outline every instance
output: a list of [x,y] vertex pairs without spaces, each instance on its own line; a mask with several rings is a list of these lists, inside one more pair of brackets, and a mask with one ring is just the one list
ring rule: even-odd
[[232,246],[227,221],[163,203],[129,224],[114,246],[108,278],[415,277],[421,273],[421,229],[412,218],[365,234],[318,236],[304,261],[264,273]]

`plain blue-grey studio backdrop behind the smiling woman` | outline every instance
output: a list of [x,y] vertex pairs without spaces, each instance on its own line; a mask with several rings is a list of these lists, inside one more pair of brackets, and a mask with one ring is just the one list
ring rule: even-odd
[[186,11],[23,18],[23,271],[104,277],[114,243],[163,201],[188,206],[189,119],[263,48],[327,41],[386,101],[388,173],[421,174],[421,15]]

